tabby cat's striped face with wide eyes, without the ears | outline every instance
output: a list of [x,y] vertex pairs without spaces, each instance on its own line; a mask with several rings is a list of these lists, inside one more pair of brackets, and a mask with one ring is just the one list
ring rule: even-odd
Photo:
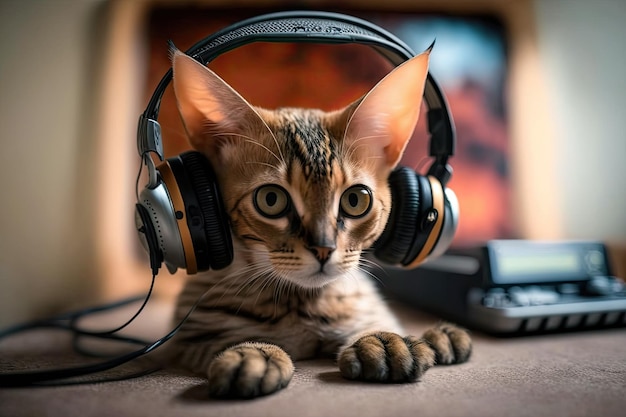
[[382,233],[387,178],[345,146],[337,115],[259,114],[269,130],[229,141],[221,158],[212,158],[233,235],[250,249],[241,254],[249,262],[319,287],[358,267],[361,251]]

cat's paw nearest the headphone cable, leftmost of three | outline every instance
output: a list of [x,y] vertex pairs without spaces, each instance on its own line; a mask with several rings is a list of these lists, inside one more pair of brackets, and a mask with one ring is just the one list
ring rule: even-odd
[[209,366],[209,392],[214,397],[253,398],[289,384],[293,362],[278,346],[242,343],[226,349]]

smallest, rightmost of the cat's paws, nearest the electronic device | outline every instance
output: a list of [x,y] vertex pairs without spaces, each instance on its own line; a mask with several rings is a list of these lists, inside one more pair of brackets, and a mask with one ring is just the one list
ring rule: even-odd
[[440,324],[427,330],[422,339],[435,351],[437,365],[467,362],[472,354],[472,339],[466,330],[453,324]]

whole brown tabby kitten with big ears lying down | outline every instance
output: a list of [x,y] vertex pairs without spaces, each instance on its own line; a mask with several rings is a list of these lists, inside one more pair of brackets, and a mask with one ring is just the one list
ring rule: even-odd
[[230,218],[231,265],[188,278],[169,346],[176,365],[208,376],[215,397],[286,387],[294,361],[334,357],[348,379],[418,380],[470,357],[451,324],[403,335],[361,257],[389,216],[389,173],[417,123],[430,50],[396,67],[344,109],[253,107],[172,50],[189,142],[216,171]]

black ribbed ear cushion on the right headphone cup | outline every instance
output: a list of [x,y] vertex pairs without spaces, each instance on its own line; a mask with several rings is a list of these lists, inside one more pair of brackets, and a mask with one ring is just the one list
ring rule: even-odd
[[396,265],[404,261],[413,246],[420,211],[420,186],[415,171],[398,167],[389,175],[391,211],[385,230],[374,243],[374,255]]

